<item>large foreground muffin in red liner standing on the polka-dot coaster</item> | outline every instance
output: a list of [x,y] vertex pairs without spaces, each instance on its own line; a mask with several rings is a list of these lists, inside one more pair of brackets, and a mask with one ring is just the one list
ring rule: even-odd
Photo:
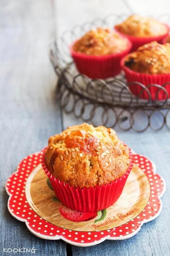
[[113,129],[81,124],[50,137],[42,165],[65,206],[90,212],[119,198],[132,154]]

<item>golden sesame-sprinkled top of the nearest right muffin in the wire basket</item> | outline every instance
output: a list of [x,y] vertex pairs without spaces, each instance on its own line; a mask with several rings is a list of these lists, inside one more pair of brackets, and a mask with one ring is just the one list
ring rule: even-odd
[[136,52],[125,57],[124,65],[129,69],[146,74],[170,73],[170,44],[157,42],[140,46]]

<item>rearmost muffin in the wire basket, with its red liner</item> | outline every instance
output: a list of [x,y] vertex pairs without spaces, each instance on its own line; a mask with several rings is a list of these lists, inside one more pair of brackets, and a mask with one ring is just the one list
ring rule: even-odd
[[115,30],[128,37],[132,42],[132,51],[146,43],[162,42],[169,33],[169,27],[152,17],[131,15],[121,24],[115,26]]

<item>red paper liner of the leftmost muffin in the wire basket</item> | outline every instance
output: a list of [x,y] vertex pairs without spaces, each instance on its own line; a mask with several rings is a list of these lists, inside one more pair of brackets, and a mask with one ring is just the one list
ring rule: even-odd
[[126,40],[127,49],[120,53],[92,56],[74,52],[72,50],[72,46],[70,47],[70,53],[80,73],[88,76],[89,78],[110,78],[120,73],[120,60],[130,52],[132,44],[128,39]]

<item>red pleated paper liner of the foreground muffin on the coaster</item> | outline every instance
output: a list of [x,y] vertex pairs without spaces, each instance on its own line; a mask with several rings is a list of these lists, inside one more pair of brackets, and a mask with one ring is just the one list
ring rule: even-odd
[[43,150],[42,167],[51,181],[52,187],[57,198],[67,207],[76,211],[96,212],[102,209],[106,209],[110,205],[114,204],[118,200],[125,186],[126,180],[133,167],[133,155],[129,150],[130,165],[126,173],[116,181],[102,185],[99,187],[84,187],[75,188],[68,183],[56,179],[50,171],[48,171],[45,165],[45,150]]

